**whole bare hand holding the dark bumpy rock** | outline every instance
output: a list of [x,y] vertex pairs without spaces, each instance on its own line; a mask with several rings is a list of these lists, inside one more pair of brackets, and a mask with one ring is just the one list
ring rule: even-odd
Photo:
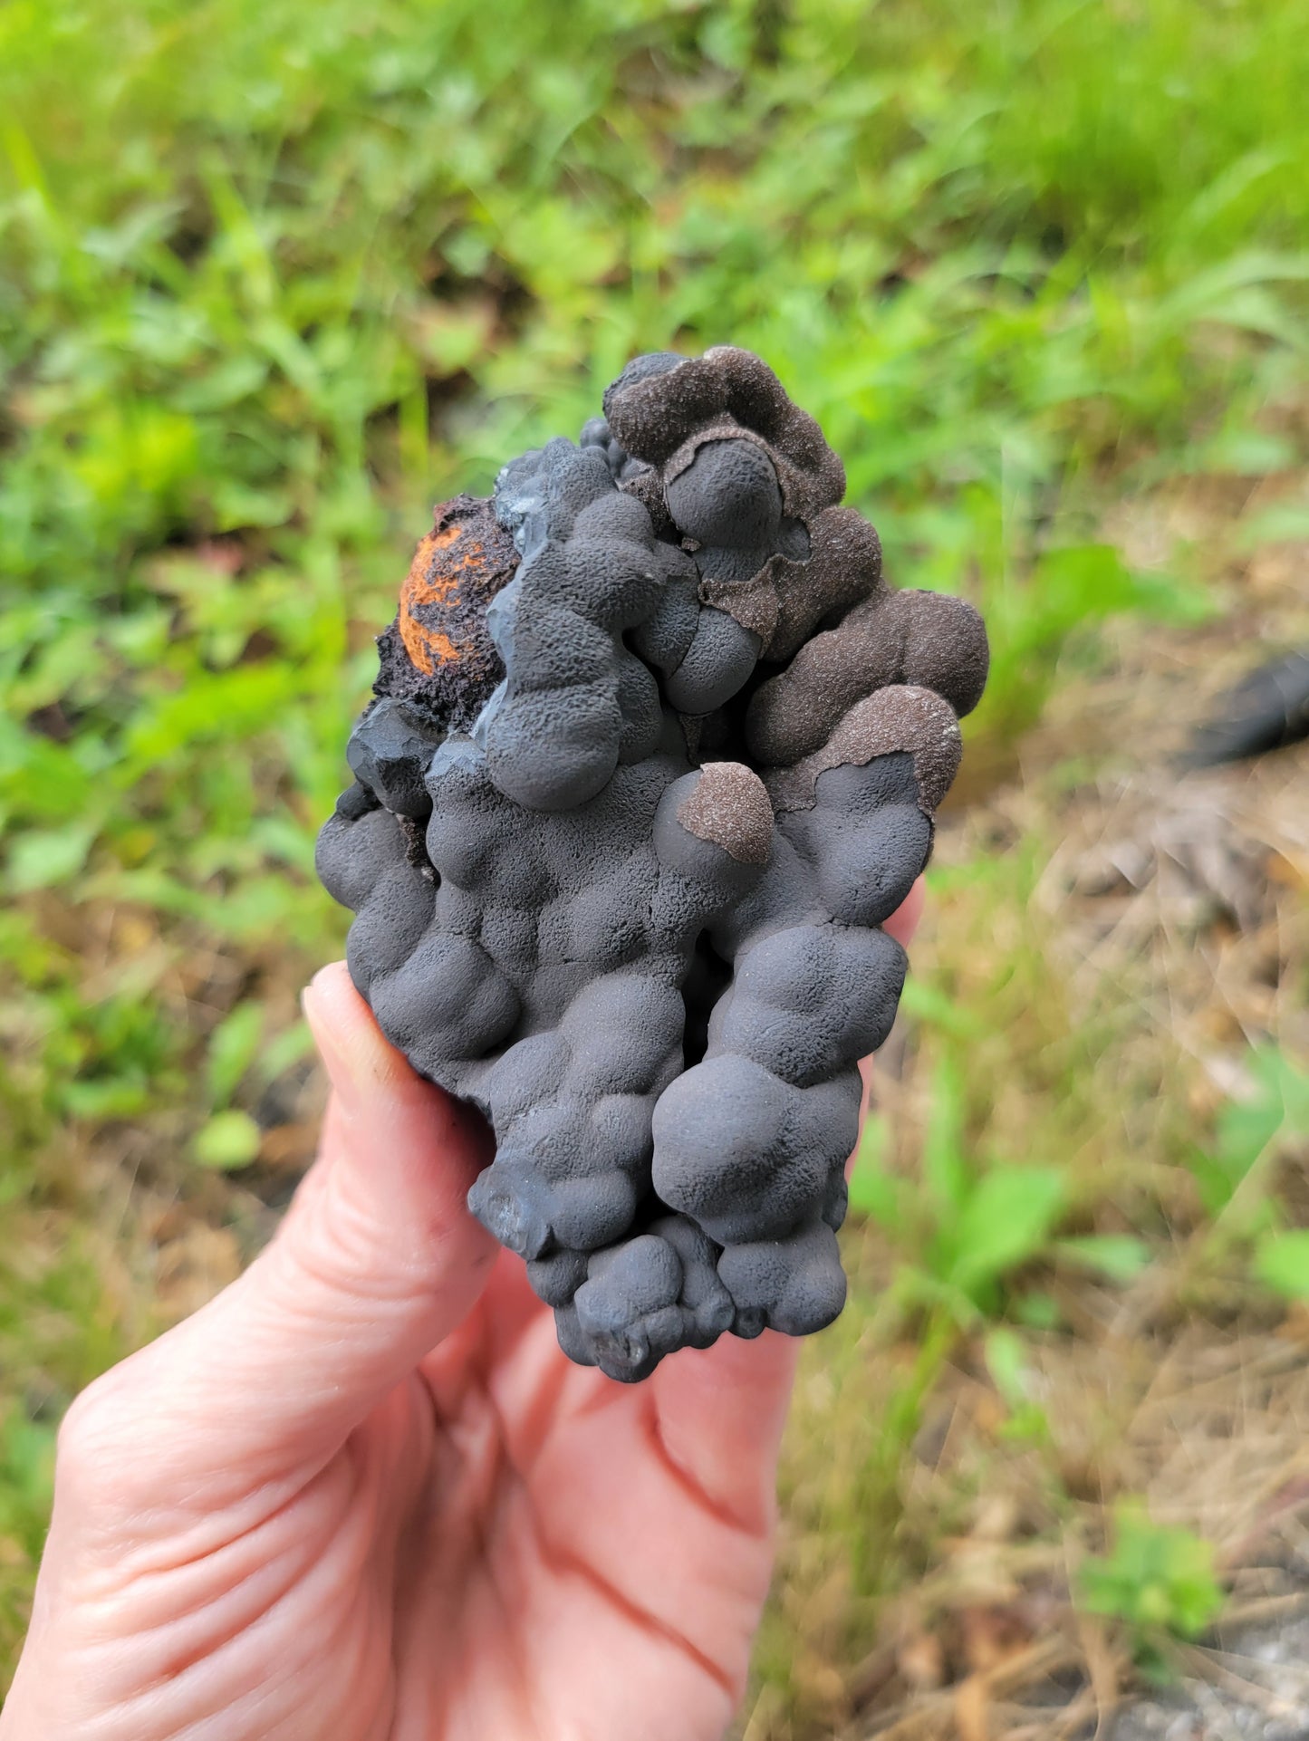
[[233,1287],[73,1403],[0,1741],[721,1736],[795,1344],[571,1365],[465,1208],[480,1121],[343,966],[305,1008],[319,1161]]

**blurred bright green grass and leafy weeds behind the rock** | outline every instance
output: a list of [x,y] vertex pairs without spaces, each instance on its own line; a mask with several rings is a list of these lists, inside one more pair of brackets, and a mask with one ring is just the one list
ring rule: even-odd
[[[752,346],[891,576],[985,611],[997,778],[1098,623],[1222,604],[1203,550],[1133,566],[1112,503],[1306,463],[1307,87],[1299,0],[0,9],[0,1664],[50,1422],[153,1321],[84,1158],[185,1193],[259,1153],[305,1053],[270,987],[341,947],[313,834],[432,501],[637,350]],[[1048,844],[942,870],[956,947],[1013,949],[928,961],[930,1194],[872,1153],[856,1191],[942,1358],[1041,1255],[1145,1260],[1069,1158],[1166,1085],[1050,1008]],[[1030,1149],[987,1135],[997,1081]],[[1171,1100],[1144,1140],[1206,1137]],[[1224,1135],[1203,1180],[1238,1165]],[[1292,1294],[1283,1219],[1241,1233]]]

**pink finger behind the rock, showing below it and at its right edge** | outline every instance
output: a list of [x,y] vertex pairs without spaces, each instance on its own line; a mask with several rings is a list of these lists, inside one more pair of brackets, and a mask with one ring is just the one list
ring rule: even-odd
[[[907,947],[923,918],[923,877],[883,930]],[[860,1064],[865,1083],[872,1060]],[[851,1156],[853,1160],[853,1156]],[[668,1457],[719,1509],[766,1527],[799,1342],[768,1330],[757,1342],[722,1337],[705,1353],[663,1361],[649,1379]]]

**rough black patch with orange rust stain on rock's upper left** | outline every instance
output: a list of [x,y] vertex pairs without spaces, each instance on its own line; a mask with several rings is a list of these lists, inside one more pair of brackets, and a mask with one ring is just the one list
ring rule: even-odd
[[414,550],[395,622],[378,635],[374,693],[418,702],[447,729],[472,724],[505,676],[486,609],[517,568],[519,552],[489,500],[440,503]]

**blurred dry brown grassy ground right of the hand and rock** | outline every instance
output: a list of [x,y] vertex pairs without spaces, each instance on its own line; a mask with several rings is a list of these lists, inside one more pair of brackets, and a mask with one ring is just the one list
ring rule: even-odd
[[[888,1307],[898,1254],[851,1234],[853,1311],[802,1368],[747,1741],[1107,1734],[1133,1687],[1128,1640],[1072,1590],[1123,1494],[1215,1544],[1229,1624],[1306,1600],[1309,1316],[1285,1316],[1239,1252],[1215,1250],[1185,1166],[1248,1088],[1253,1043],[1309,1055],[1309,745],[1178,770],[1260,646],[1309,644],[1309,547],[1224,555],[1276,487],[1292,486],[1124,512],[1114,536],[1135,562],[1212,540],[1227,613],[1124,629],[1111,669],[1060,689],[1020,768],[943,827],[914,951],[978,1018],[978,1147],[1067,1161],[1081,1226],[1144,1231],[1154,1260],[1130,1287],[1060,1264],[1036,1278],[1057,1325],[1024,1332],[1024,1428],[982,1339],[924,1349],[931,1325]],[[910,1172],[938,1041],[910,1017],[881,1059]],[[1306,1220],[1304,1158],[1279,1184]],[[1232,1675],[1218,1649],[1178,1663]]]

